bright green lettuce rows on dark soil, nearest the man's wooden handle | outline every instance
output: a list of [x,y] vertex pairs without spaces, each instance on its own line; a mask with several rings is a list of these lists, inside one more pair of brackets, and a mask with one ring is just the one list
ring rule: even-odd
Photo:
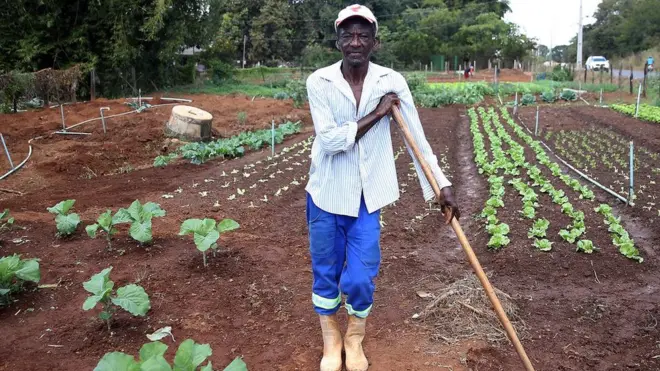
[[[504,195],[507,189],[505,184],[508,184],[517,191],[522,201],[522,209],[518,213],[524,219],[530,220],[528,237],[533,241],[534,247],[541,251],[549,251],[554,243],[551,241],[552,236],[548,235],[550,221],[546,218],[547,215],[538,215],[542,202],[541,195],[546,195],[548,197],[545,199],[551,200],[555,207],[570,219],[568,225],[561,226],[558,236],[563,241],[574,244],[577,251],[584,253],[596,251],[597,247],[592,240],[585,238],[587,223],[585,223],[584,210],[579,210],[571,201],[568,192],[559,189],[555,184],[560,181],[578,199],[593,201],[595,198],[593,191],[570,175],[563,174],[559,164],[550,159],[540,142],[534,140],[515,123],[505,107],[502,107],[499,113],[492,107],[488,110],[483,107],[478,110],[472,108],[468,114],[471,120],[474,159],[479,173],[487,176],[490,185],[490,198],[481,213],[486,222],[486,230],[491,236],[488,246],[499,249],[510,243],[509,225],[498,218],[498,209],[505,207]],[[507,124],[508,129],[501,123],[500,118]],[[518,143],[509,134],[510,131],[528,147]],[[490,151],[487,150],[486,143],[489,144]],[[545,205],[543,209],[551,208]],[[619,252],[641,262],[643,259],[639,256],[634,241],[621,225],[620,219],[612,214],[612,209],[608,205],[600,205],[595,207],[594,211],[604,217],[604,223],[608,225],[611,233],[612,243],[619,248]]]

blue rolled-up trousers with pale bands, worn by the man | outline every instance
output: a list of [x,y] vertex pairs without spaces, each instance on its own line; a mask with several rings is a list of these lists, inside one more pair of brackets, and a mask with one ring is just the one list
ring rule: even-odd
[[335,215],[318,208],[307,194],[307,225],[314,310],[336,313],[343,293],[348,314],[367,317],[380,266],[380,211],[369,214],[362,198],[357,218]]

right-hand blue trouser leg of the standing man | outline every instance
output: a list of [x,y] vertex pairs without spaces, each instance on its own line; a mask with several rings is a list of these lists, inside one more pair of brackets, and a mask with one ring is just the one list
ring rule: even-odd
[[362,200],[357,218],[342,218],[346,229],[346,265],[341,291],[346,295],[348,314],[365,318],[374,302],[374,278],[380,267],[380,211],[371,214]]

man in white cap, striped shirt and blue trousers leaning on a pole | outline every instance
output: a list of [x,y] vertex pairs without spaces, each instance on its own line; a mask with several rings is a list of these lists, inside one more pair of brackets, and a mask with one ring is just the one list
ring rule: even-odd
[[[369,62],[379,46],[373,13],[364,6],[349,6],[339,12],[335,29],[343,59],[307,79],[316,131],[306,187],[307,222],[314,275],[312,302],[323,332],[320,368],[338,371],[342,367],[336,313],[343,293],[349,314],[343,341],[346,369],[356,371],[369,367],[362,340],[380,265],[379,210],[399,198],[390,137],[393,106],[401,108],[442,188],[445,221],[449,223],[460,214],[451,183],[424,136],[405,79]],[[424,198],[433,199],[433,190],[417,161],[415,167]]]

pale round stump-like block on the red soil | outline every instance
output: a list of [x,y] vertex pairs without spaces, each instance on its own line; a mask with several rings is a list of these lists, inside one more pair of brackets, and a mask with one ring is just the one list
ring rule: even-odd
[[174,106],[165,133],[187,141],[210,140],[212,121],[213,116],[199,108]]

